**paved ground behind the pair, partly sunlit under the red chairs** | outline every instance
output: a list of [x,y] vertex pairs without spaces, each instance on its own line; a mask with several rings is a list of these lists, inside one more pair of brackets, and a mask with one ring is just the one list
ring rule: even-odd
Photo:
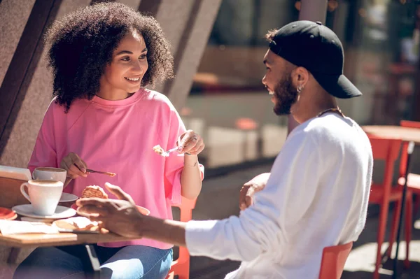
[[[202,194],[197,200],[193,218],[195,220],[221,219],[230,215],[237,215],[239,213],[237,205],[238,194],[241,185],[258,173],[269,171],[269,168],[270,165],[265,164],[251,169],[228,173],[225,176],[205,179]],[[378,212],[379,210],[375,206],[369,208],[365,230],[353,245],[351,255],[346,262],[343,279],[372,278],[377,249]],[[420,214],[416,217],[420,218]],[[391,215],[388,219],[388,224],[390,223]],[[420,278],[420,221],[414,227],[419,227],[419,229],[413,229],[412,243],[410,245],[411,267],[408,271],[405,271],[402,269],[400,262],[399,271],[402,273],[400,278]],[[387,244],[384,245],[384,248],[386,248]],[[400,245],[399,254],[399,259],[405,259],[405,242],[403,245]],[[216,261],[207,257],[192,257],[190,278],[223,278],[226,273],[235,270],[238,265],[238,262]],[[392,278],[392,266],[392,261],[384,264],[384,268],[380,270],[380,278]]]

